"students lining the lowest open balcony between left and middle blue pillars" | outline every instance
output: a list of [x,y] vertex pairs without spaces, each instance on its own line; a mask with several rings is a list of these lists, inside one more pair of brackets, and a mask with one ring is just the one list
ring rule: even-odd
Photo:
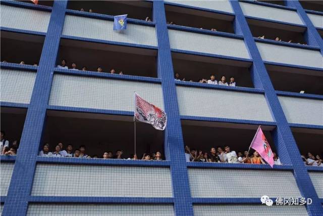
[[[49,151],[49,144],[43,145],[42,150],[39,152],[39,156],[43,157],[77,157],[77,158],[102,158],[102,159],[128,159],[128,160],[139,160],[136,154],[132,154],[128,158],[123,158],[122,150],[117,150],[115,154],[112,151],[103,152],[102,156],[86,154],[85,145],[81,145],[78,149],[73,150],[73,145],[67,145],[66,150],[63,147],[63,143],[59,143],[55,146],[55,151]],[[155,153],[144,153],[141,160],[163,160],[160,151]]]

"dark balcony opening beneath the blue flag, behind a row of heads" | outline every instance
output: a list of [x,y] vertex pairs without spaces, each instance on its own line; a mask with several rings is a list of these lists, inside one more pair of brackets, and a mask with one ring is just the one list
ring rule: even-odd
[[122,71],[124,75],[157,77],[156,56],[157,50],[152,49],[62,38],[57,65],[65,59],[69,68],[75,63],[78,70],[85,66],[87,71],[97,71],[100,66],[104,73],[114,68],[114,75]]

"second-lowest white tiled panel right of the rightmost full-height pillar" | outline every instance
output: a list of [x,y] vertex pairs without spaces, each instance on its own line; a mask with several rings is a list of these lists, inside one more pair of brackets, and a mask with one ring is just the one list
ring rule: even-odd
[[289,123],[323,125],[323,100],[279,96]]

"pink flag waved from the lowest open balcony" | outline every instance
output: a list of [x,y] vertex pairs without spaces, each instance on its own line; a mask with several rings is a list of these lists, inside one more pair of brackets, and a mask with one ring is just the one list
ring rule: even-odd
[[267,163],[271,165],[271,167],[274,166],[273,151],[266,137],[262,133],[260,126],[258,127],[256,135],[254,136],[251,142],[250,148],[253,148],[254,150],[256,150],[259,153],[259,155],[262,157],[262,159],[267,161]]

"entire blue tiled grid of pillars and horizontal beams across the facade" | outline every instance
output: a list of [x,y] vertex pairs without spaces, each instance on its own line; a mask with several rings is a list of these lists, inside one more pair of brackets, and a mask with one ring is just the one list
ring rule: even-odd
[[[249,2],[249,1],[248,1]],[[13,68],[19,70],[37,70],[36,80],[34,89],[31,97],[30,104],[16,104],[3,102],[1,106],[4,107],[21,107],[28,109],[25,120],[25,125],[22,133],[19,154],[17,156],[1,156],[0,159],[4,161],[15,161],[15,167],[13,176],[11,179],[9,191],[7,196],[1,197],[1,202],[5,202],[3,215],[26,215],[28,202],[40,202],[40,203],[171,203],[174,204],[176,215],[193,215],[193,203],[199,204],[215,204],[215,203],[259,203],[258,199],[255,198],[192,198],[189,178],[188,178],[188,167],[195,168],[233,168],[233,169],[272,169],[268,165],[249,165],[249,164],[211,164],[211,163],[194,163],[186,162],[184,155],[184,142],[182,136],[181,119],[189,120],[202,120],[202,121],[222,121],[222,122],[234,122],[234,123],[245,123],[245,124],[266,124],[273,125],[276,128],[272,131],[272,137],[276,144],[276,149],[280,155],[281,161],[284,166],[274,166],[274,170],[292,170],[296,183],[303,197],[310,197],[313,199],[311,205],[306,206],[309,215],[323,215],[322,203],[323,199],[319,199],[313,184],[308,176],[308,170],[322,171],[319,167],[305,167],[304,163],[300,158],[300,153],[297,148],[297,144],[293,138],[290,127],[308,127],[323,129],[320,126],[313,125],[299,125],[289,124],[286,120],[278,95],[285,95],[291,97],[304,97],[304,98],[315,98],[322,100],[322,96],[316,95],[302,95],[296,93],[287,93],[275,91],[266,71],[260,54],[257,50],[255,41],[249,30],[246,18],[242,13],[238,1],[230,1],[234,13],[225,13],[227,15],[234,16],[233,26],[235,34],[222,33],[222,32],[208,32],[206,30],[191,29],[180,26],[170,26],[166,24],[165,6],[163,1],[153,1],[153,20],[154,22],[147,23],[141,20],[129,19],[130,23],[155,26],[156,37],[158,41],[158,47],[151,46],[136,46],[145,49],[158,49],[157,55],[157,75],[158,78],[149,77],[136,77],[136,76],[113,76],[111,74],[97,74],[94,72],[86,71],[71,71],[64,69],[57,69],[55,65],[57,63],[57,56],[59,52],[59,44],[61,38],[81,39],[86,41],[103,42],[108,44],[115,44],[121,46],[134,46],[125,43],[118,43],[114,41],[102,41],[93,40],[86,38],[76,38],[62,35],[65,14],[72,14],[76,16],[92,17],[97,19],[112,20],[112,16],[98,15],[90,13],[81,13],[78,11],[67,10],[67,1],[55,1],[53,7],[46,6],[35,6],[28,3],[21,3],[16,1],[2,1],[1,4],[12,5],[15,7],[23,7],[34,10],[51,11],[50,22],[48,31],[46,33],[1,28],[4,31],[14,31],[21,33],[44,35],[45,42],[42,49],[39,66],[22,66],[11,63],[1,63],[1,68]],[[170,3],[167,3],[170,4]],[[286,10],[297,11],[298,15],[304,22],[306,31],[304,32],[305,39],[308,47],[302,45],[286,45],[295,46],[299,48],[310,48],[313,50],[319,50],[323,54],[323,40],[315,29],[314,25],[309,20],[305,10],[301,7],[298,1],[285,1],[286,6],[276,6],[273,4],[252,2],[250,4],[258,4],[267,7],[276,7]],[[171,4],[179,7],[186,7],[183,5]],[[195,7],[186,7],[190,9],[197,9]],[[204,11],[211,13],[224,13],[214,10],[203,9]],[[245,45],[248,49],[251,60],[238,59],[230,57],[222,57],[227,59],[235,59],[241,61],[250,61],[250,74],[255,89],[248,88],[236,88],[234,90],[226,89],[226,87],[206,87],[200,83],[186,83],[178,82],[174,80],[174,71],[172,64],[171,52],[176,50],[170,49],[170,42],[168,36],[168,28],[197,32],[201,34],[218,35],[231,38],[244,39]],[[265,41],[262,41],[265,42]],[[272,42],[267,41],[271,43]],[[212,57],[221,57],[216,55],[207,55],[194,52],[185,52],[192,55],[204,55]],[[269,62],[270,63],[270,62]],[[279,63],[270,63],[279,65]],[[281,64],[284,65],[284,64]],[[284,65],[291,66],[291,65]],[[306,67],[305,67],[306,68]],[[309,68],[313,69],[313,68]],[[161,83],[163,89],[163,99],[165,111],[168,115],[168,126],[165,131],[165,156],[168,161],[128,161],[128,160],[99,160],[99,159],[80,159],[74,160],[71,158],[42,158],[38,157],[37,153],[39,146],[42,143],[42,132],[46,123],[46,110],[65,110],[65,111],[76,111],[76,112],[91,112],[91,113],[103,113],[103,114],[115,114],[115,115],[133,115],[133,112],[122,112],[114,110],[97,110],[97,109],[86,109],[76,107],[57,107],[48,106],[49,93],[51,89],[51,83],[53,73],[61,74],[73,74],[78,76],[92,76],[100,78],[115,78],[124,80],[135,80],[142,82],[153,82]],[[239,92],[252,92],[255,94],[264,94],[267,100],[268,106],[270,106],[271,114],[274,122],[258,122],[258,121],[247,121],[240,119],[221,119],[221,118],[201,118],[198,116],[180,116],[176,85],[194,86],[197,88],[213,88],[223,89],[227,91],[239,91]],[[42,196],[30,196],[32,189],[32,182],[35,172],[36,163],[61,163],[61,164],[87,164],[87,165],[134,165],[134,166],[156,166],[156,167],[170,167],[172,175],[172,186],[173,186],[173,198],[133,198],[133,197],[42,197]]]

